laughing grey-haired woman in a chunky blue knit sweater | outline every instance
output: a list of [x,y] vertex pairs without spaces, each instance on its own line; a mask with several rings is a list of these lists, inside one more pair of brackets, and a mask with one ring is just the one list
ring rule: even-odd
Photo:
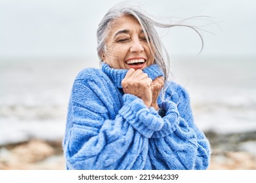
[[173,26],[119,5],[100,22],[102,68],[81,71],[72,88],[67,169],[207,169],[209,141],[194,124],[188,93],[167,81],[154,25]]

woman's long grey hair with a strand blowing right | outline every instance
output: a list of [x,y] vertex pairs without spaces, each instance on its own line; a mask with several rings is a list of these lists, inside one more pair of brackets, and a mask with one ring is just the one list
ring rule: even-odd
[[[150,46],[150,51],[153,53],[153,50],[154,50],[154,63],[158,64],[163,71],[165,84],[169,76],[170,59],[169,59],[169,54],[165,46],[163,45],[163,42],[161,41],[160,36],[158,35],[155,27],[160,27],[160,28],[170,28],[170,27],[177,27],[177,26],[190,27],[194,29],[194,31],[196,31],[196,33],[198,33],[198,35],[200,36],[200,39],[202,41],[202,48],[203,48],[202,36],[200,35],[199,31],[195,27],[192,27],[190,25],[184,25],[184,24],[163,24],[153,20],[153,18],[150,18],[150,16],[146,14],[146,12],[143,12],[138,7],[119,3],[116,6],[112,7],[106,13],[104,18],[98,25],[97,52],[98,52],[98,57],[100,59],[102,59],[102,54],[106,52],[105,43],[106,43],[106,39],[108,37],[109,31],[111,30],[112,24],[114,24],[115,20],[125,15],[133,16],[138,20],[139,24],[141,25],[142,30],[144,31],[144,35],[146,36],[148,45],[152,45],[152,48]],[[200,52],[202,52],[202,48]]]

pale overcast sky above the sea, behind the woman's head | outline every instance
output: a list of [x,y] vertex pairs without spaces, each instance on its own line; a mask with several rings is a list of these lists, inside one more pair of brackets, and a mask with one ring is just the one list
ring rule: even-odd
[[[84,0],[0,0],[0,58],[97,57],[96,28],[117,2]],[[135,1],[133,1],[135,2]],[[137,1],[136,1],[137,2]],[[189,18],[203,32],[203,56],[256,56],[256,3],[253,0],[138,1],[155,16]],[[196,55],[200,39],[189,29],[175,27],[163,37],[170,54]]]

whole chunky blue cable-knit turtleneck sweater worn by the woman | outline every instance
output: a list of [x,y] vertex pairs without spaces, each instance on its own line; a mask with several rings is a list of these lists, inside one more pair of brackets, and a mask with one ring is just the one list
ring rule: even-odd
[[[143,71],[152,80],[158,65]],[[84,69],[75,78],[63,141],[67,169],[207,169],[209,141],[194,124],[188,93],[170,82],[153,107],[124,94],[127,70]]]

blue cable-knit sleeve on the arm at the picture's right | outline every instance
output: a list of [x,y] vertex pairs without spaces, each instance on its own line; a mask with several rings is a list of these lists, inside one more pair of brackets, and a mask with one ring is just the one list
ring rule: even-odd
[[154,169],[207,169],[209,141],[194,124],[188,93],[176,84],[169,86],[165,101],[164,125],[149,141],[149,156]]

